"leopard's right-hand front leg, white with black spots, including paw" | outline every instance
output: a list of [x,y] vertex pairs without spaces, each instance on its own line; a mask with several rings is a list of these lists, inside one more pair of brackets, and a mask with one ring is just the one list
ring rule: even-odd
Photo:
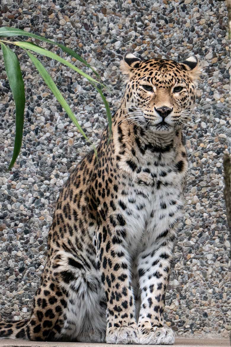
[[175,340],[174,332],[163,324],[174,238],[173,230],[163,232],[155,246],[139,257],[141,308],[138,330],[142,345],[172,345]]

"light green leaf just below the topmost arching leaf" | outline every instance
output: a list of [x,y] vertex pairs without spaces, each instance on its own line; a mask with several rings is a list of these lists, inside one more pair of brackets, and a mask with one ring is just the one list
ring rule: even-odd
[[[89,76],[88,74],[86,74],[85,72],[83,72],[82,70],[80,70],[78,67],[74,66],[73,64],[71,64],[69,61],[61,58],[60,56],[58,56],[57,54],[51,52],[51,51],[47,51],[46,49],[37,46],[34,43],[30,43],[30,42],[21,42],[21,41],[13,41],[12,44],[19,46],[23,49],[29,49],[33,52],[36,52],[38,54],[42,54],[43,56],[46,56],[48,58],[52,58],[56,61],[61,62],[63,65],[66,65],[68,67],[70,67],[72,70],[78,72],[80,75],[82,75],[83,77],[87,78],[88,81],[90,83],[94,82],[97,84],[101,84],[101,86],[107,88],[103,83],[96,81],[95,78],[92,78],[91,76]],[[107,88],[108,89],[108,88]]]

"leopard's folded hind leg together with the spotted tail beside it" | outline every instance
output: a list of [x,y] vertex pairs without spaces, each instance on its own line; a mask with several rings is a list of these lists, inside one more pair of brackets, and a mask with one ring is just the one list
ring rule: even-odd
[[106,297],[94,261],[81,253],[48,257],[31,318],[1,322],[1,338],[104,342]]

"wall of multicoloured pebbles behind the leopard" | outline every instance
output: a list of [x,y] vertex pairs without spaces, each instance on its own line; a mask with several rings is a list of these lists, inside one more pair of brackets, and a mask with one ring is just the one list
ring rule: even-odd
[[[222,168],[231,137],[226,15],[224,2],[215,0],[2,0],[0,8],[1,26],[25,28],[76,49],[112,90],[105,93],[112,112],[123,94],[118,66],[126,51],[142,58],[183,61],[194,53],[201,59],[197,103],[202,120],[185,132],[190,166],[187,205],[166,296],[167,324],[177,336],[222,337],[231,330]],[[59,48],[53,49],[65,57]],[[44,268],[57,194],[89,146],[26,54],[17,53],[25,80],[25,128],[17,163],[6,172],[15,116],[0,52],[0,312],[4,318],[21,320],[29,316]],[[97,144],[107,123],[100,96],[69,68],[48,58],[43,64]],[[81,66],[78,61],[76,65]]]

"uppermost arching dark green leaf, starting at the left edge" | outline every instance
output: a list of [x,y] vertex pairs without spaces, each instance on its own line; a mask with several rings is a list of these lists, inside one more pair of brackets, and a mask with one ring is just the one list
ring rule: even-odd
[[21,29],[17,29],[17,28],[11,28],[11,27],[1,27],[0,28],[0,37],[11,37],[11,36],[28,36],[28,37],[33,37],[33,39],[37,39],[37,40],[41,40],[41,41],[45,41],[47,43],[50,43],[50,44],[54,44],[54,45],[57,45],[59,46],[64,52],[70,54],[73,58],[81,61],[83,64],[85,64],[87,67],[89,67],[93,72],[94,74],[100,78],[99,74],[86,62],[86,60],[84,60],[83,58],[81,58],[79,56],[79,54],[77,54],[75,51],[73,51],[72,49],[60,44],[60,43],[57,43],[57,42],[54,42],[54,41],[51,41],[51,40],[48,40],[46,39],[45,37],[43,36],[39,36],[39,35],[35,35],[35,34],[32,34],[32,33],[28,33],[26,31],[23,31]]

